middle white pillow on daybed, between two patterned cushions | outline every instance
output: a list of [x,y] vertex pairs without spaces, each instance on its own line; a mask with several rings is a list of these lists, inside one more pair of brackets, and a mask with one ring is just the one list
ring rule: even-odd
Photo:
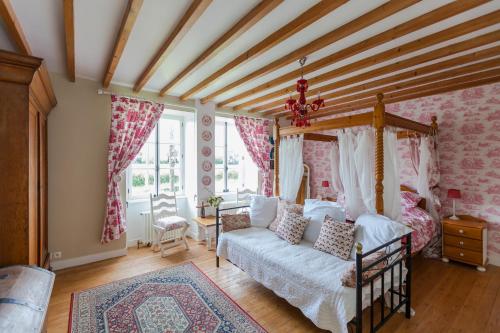
[[306,241],[311,243],[316,242],[326,215],[335,221],[345,222],[345,209],[338,203],[317,199],[305,200],[304,217],[310,218],[310,222],[304,232],[304,239]]

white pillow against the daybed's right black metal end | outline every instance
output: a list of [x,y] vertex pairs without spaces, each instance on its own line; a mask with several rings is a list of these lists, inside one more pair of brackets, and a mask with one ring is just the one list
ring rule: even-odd
[[[352,259],[356,259],[356,244],[358,242],[363,245],[363,253],[365,253],[412,231],[412,229],[386,216],[368,213],[358,217],[356,226],[354,246],[351,251]],[[396,249],[400,245],[400,242],[395,242],[390,249]]]

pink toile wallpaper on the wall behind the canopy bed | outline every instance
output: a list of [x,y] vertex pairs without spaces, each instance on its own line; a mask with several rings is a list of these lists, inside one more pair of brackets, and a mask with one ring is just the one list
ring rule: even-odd
[[[449,188],[462,191],[459,213],[489,223],[490,261],[500,264],[500,84],[492,84],[386,106],[388,112],[430,124],[438,117],[443,213],[451,212]],[[364,110],[366,112],[369,110]],[[306,141],[304,163],[311,167],[311,194],[330,179],[329,143]],[[415,187],[406,140],[400,140],[401,182]],[[328,189],[328,194],[332,190]]]

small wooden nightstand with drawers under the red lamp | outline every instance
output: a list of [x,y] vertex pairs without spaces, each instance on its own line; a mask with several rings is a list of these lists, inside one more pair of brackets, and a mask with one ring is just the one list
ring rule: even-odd
[[487,222],[469,215],[443,219],[443,261],[460,261],[486,271]]

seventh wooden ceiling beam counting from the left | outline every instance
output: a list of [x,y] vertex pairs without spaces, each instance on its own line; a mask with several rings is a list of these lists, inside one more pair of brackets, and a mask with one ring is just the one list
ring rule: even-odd
[[[284,67],[290,63],[293,63],[300,58],[307,56],[313,52],[316,52],[330,44],[333,44],[345,37],[350,36],[376,22],[381,21],[382,19],[391,16],[405,8],[410,7],[411,5],[419,2],[419,0],[404,0],[404,1],[389,1],[385,4],[371,10],[370,12],[361,15],[360,17],[347,22],[346,24],[330,31],[329,33],[313,40],[312,42],[301,46],[300,48],[284,55],[283,57],[267,64],[266,66],[242,77],[239,80],[236,80],[227,86],[209,94],[208,96],[201,99],[202,103],[208,102],[213,98],[224,94],[231,89],[234,89],[242,84],[250,82],[251,80],[255,80],[263,75],[271,73],[281,67]],[[218,107],[224,107],[227,104],[237,101],[239,98],[237,96],[226,99],[225,101],[217,104]]]

